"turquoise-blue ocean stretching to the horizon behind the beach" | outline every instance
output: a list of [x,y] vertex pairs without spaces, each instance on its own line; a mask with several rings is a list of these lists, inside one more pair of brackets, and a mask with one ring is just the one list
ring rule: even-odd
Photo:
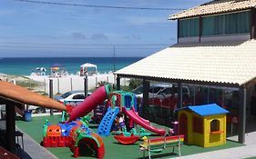
[[49,75],[51,65],[63,65],[69,74],[76,75],[80,65],[92,63],[97,65],[100,74],[117,71],[137,62],[143,57],[26,57],[0,58],[0,73],[7,75],[30,75],[36,67],[45,67]]

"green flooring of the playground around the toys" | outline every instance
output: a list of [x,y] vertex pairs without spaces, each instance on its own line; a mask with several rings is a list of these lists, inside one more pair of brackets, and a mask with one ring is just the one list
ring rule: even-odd
[[[33,117],[31,122],[25,121],[16,121],[16,126],[21,129],[23,132],[32,137],[38,144],[40,144],[43,140],[43,125],[45,123],[45,119],[47,119],[50,124],[57,124],[61,116],[41,116],[41,117]],[[158,124],[156,126],[164,127]],[[97,132],[97,126],[92,124],[92,130]],[[106,159],[138,159],[143,158],[143,153],[138,150],[138,145],[141,141],[138,141],[136,144],[123,145],[118,144],[118,141],[113,137],[113,134],[110,134],[108,137],[102,137],[105,144],[105,157]],[[152,136],[158,137],[158,136]],[[220,149],[227,149],[231,147],[241,146],[242,144],[228,141],[225,145],[210,147],[210,148],[202,148],[195,145],[181,145],[181,155],[189,155],[189,154],[199,154],[203,152],[210,152]],[[73,158],[73,153],[69,150],[68,147],[50,147],[46,148],[52,154],[55,154],[56,157],[60,159],[69,159]],[[152,154],[152,158],[171,158],[177,157],[178,154],[172,154],[172,148],[168,148],[158,154]],[[175,152],[177,153],[177,151]],[[80,158],[95,158],[91,155],[90,152],[85,153],[84,156],[79,156]]]

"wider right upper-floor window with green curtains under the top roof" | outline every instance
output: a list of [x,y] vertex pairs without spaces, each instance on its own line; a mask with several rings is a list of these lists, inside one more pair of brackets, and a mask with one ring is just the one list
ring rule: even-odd
[[250,12],[202,17],[202,35],[250,33]]

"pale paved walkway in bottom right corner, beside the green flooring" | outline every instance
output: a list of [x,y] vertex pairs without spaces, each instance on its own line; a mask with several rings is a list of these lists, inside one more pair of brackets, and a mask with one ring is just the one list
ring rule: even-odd
[[[186,155],[181,157],[176,157],[179,159],[182,158],[189,158],[189,159],[236,159],[236,158],[248,158],[248,157],[255,157],[256,158],[256,132],[252,132],[246,134],[245,136],[245,144],[244,146],[212,151],[208,153],[201,153],[201,154],[192,154]],[[237,138],[237,136],[233,137],[232,139]],[[237,141],[237,140],[236,140]],[[182,148],[181,148],[181,155],[182,155]]]

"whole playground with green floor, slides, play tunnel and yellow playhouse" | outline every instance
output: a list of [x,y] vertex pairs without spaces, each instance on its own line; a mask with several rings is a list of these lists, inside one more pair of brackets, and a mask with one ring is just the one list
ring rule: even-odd
[[84,101],[65,101],[67,111],[61,115],[16,121],[16,126],[57,158],[171,158],[242,145],[226,141],[228,111],[217,104],[179,110],[178,134],[142,118],[134,94],[110,89],[107,84]]

